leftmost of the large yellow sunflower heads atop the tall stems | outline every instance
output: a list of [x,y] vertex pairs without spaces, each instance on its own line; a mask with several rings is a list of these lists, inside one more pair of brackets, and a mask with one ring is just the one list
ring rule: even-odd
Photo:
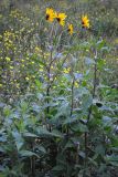
[[53,22],[54,19],[56,18],[56,12],[51,8],[46,8],[46,17],[45,18],[49,22]]

